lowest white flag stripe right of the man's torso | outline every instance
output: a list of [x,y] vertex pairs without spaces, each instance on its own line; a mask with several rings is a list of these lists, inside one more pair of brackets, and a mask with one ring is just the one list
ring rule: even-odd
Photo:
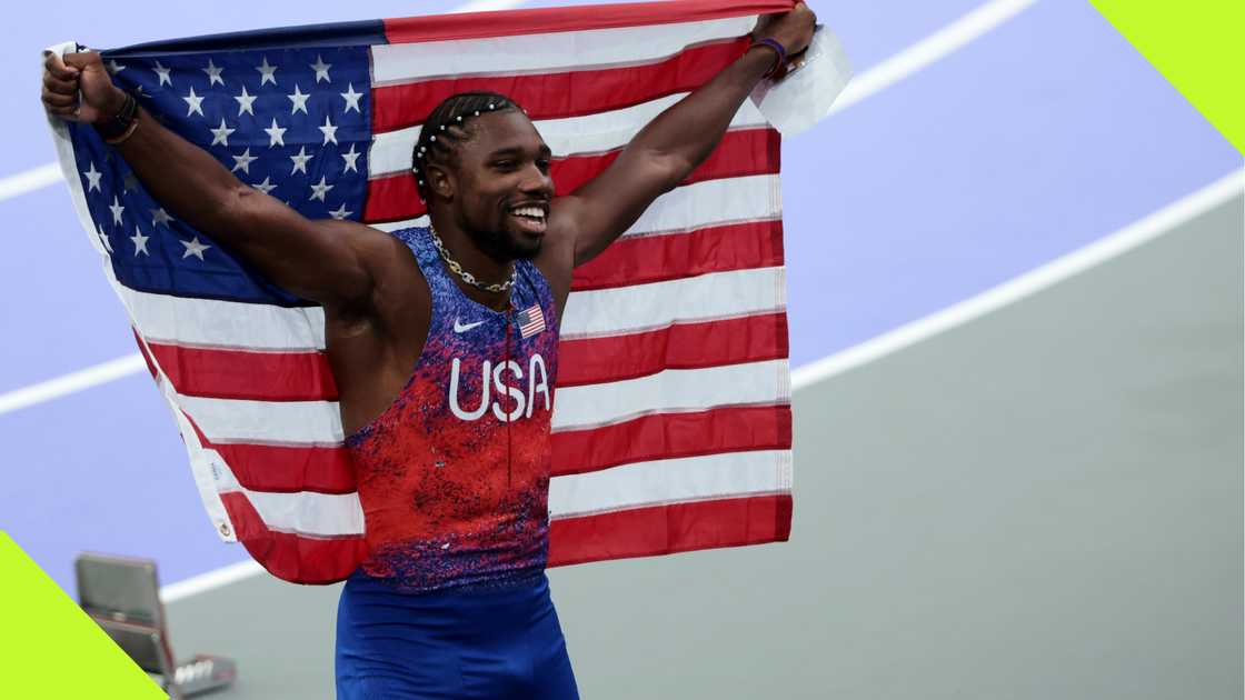
[[730,452],[555,477],[549,482],[549,516],[788,492],[791,451]]

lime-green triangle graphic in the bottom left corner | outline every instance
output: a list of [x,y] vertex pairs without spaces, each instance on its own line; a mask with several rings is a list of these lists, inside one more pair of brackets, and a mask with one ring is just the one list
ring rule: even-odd
[[0,696],[164,699],[120,646],[0,531]]

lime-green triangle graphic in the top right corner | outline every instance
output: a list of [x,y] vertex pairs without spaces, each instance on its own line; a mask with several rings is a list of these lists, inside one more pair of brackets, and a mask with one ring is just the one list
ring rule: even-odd
[[1091,0],[1091,4],[1245,153],[1245,2]]

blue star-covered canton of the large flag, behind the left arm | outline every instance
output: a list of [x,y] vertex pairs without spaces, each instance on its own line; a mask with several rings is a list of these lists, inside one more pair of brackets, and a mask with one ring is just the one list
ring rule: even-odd
[[[113,81],[235,177],[309,218],[359,220],[367,191],[365,46],[107,56]],[[131,289],[301,306],[157,203],[91,127],[70,125],[87,208]]]

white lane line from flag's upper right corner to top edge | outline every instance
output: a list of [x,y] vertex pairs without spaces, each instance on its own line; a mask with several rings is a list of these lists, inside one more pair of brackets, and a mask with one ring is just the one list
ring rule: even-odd
[[1036,4],[1037,0],[992,0],[969,11],[899,54],[854,76],[843,90],[843,95],[834,101],[830,113],[842,112],[941,61]]

